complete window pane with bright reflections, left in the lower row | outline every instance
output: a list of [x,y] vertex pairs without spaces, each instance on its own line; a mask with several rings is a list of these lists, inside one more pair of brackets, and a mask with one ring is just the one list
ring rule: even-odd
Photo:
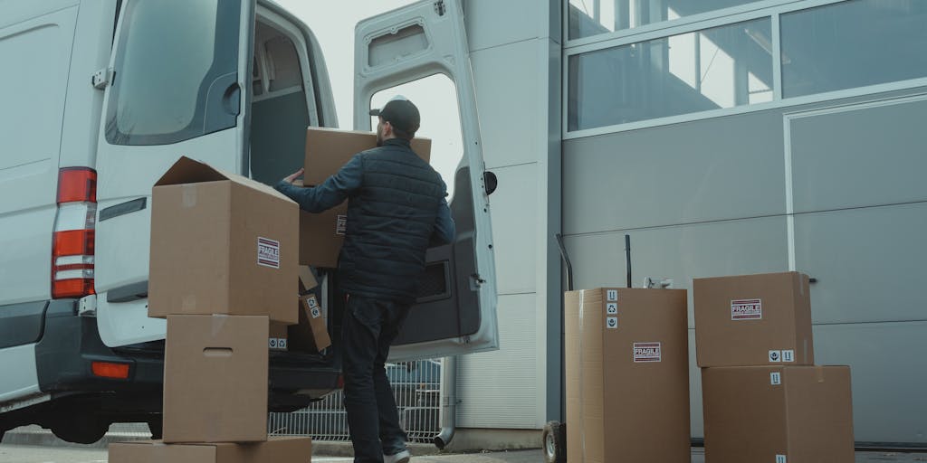
[[567,128],[769,101],[771,35],[765,18],[571,56]]

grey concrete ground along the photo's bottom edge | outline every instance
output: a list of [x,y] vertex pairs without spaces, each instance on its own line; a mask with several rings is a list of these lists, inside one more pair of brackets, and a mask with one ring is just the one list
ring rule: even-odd
[[[348,457],[312,457],[313,463],[349,463]],[[482,454],[413,457],[413,463],[541,463],[540,450],[490,452]],[[704,463],[701,449],[692,450],[692,463]],[[857,452],[856,463],[927,462],[927,453]],[[53,447],[0,444],[0,463],[107,463],[102,448]]]

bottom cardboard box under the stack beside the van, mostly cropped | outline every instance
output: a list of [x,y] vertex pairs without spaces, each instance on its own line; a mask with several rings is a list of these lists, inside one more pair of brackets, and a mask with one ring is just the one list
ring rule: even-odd
[[310,463],[309,437],[272,437],[252,444],[109,444],[109,463]]

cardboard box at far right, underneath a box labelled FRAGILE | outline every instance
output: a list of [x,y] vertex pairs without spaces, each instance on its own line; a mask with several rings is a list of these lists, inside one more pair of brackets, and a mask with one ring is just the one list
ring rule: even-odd
[[705,461],[854,461],[849,367],[702,370]]

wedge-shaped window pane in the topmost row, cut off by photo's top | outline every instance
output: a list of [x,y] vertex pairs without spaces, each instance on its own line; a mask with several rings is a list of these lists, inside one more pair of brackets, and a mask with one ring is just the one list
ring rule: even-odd
[[622,31],[759,0],[570,0],[569,38]]

